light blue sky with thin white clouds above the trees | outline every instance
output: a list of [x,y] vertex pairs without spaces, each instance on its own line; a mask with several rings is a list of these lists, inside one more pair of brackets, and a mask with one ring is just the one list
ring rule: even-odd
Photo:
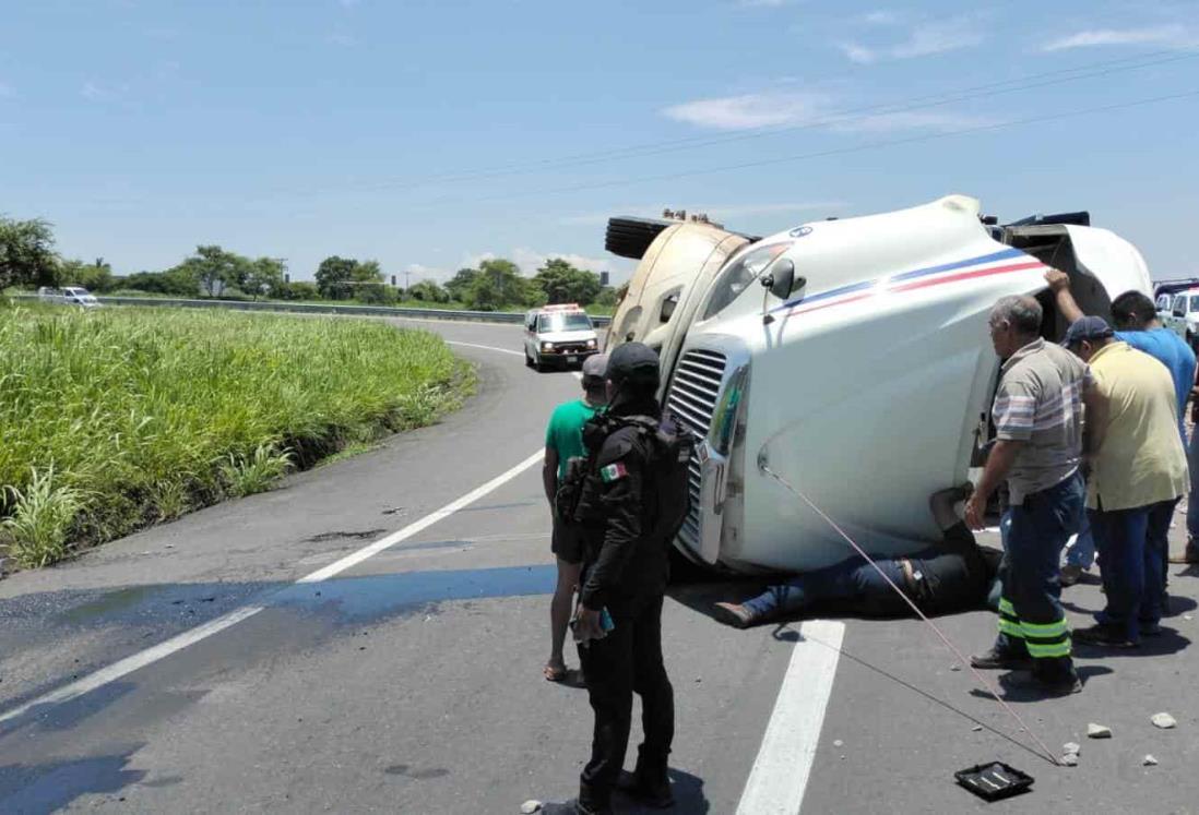
[[219,243],[620,279],[608,215],[763,234],[951,192],[1199,273],[1199,96],[1115,107],[1199,92],[1195,2],[5,5],[0,212],[122,273]]

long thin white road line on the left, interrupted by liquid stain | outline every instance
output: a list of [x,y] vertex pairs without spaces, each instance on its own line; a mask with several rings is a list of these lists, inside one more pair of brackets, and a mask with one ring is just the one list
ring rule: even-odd
[[[520,464],[507,470],[506,472],[502,472],[495,478],[492,478],[482,487],[472,489],[471,491],[463,495],[460,499],[451,501],[450,503],[441,507],[436,512],[426,515],[418,521],[409,524],[398,532],[392,532],[387,537],[381,538],[380,541],[376,541],[367,547],[363,547],[362,549],[357,550],[351,555],[348,555],[347,557],[343,557],[336,563],[331,563],[325,568],[318,569],[312,574],[300,578],[299,580],[296,580],[296,584],[301,582],[311,584],[311,582],[319,582],[321,580],[327,580],[329,578],[332,578],[336,574],[344,572],[351,566],[356,566],[357,563],[361,563],[368,557],[378,555],[384,549],[393,547],[400,541],[412,537],[417,532],[428,529],[439,520],[442,520],[444,518],[458,512],[463,507],[477,501],[488,493],[499,489],[500,487],[512,481],[513,478],[519,476],[522,472],[524,472],[532,465],[543,460],[544,455],[546,455],[544,451],[538,449],[536,453],[526,458]],[[61,688],[58,688],[56,690],[52,690],[47,694],[38,696],[37,699],[28,701],[24,705],[14,707],[11,711],[6,711],[2,714],[0,714],[0,723],[22,717],[35,707],[42,707],[46,705],[59,705],[70,701],[72,699],[77,699],[78,696],[82,696],[92,690],[96,690],[97,688],[102,688],[109,682],[115,682],[116,680],[120,680],[121,677],[127,676],[135,670],[145,668],[146,665],[151,665],[156,662],[159,662],[161,659],[165,659],[173,653],[182,651],[183,648],[194,645],[200,640],[207,639],[213,634],[219,634],[224,629],[236,626],[239,622],[242,622],[243,620],[249,620],[259,611],[263,611],[265,608],[266,608],[265,605],[247,605],[240,609],[235,609],[234,611],[230,611],[228,614],[224,614],[217,617],[216,620],[210,620],[203,626],[197,626],[191,630],[186,630],[182,634],[173,636],[169,640],[151,646],[145,651],[140,651],[133,656],[126,657],[125,659],[120,659],[113,663],[112,665],[108,665],[107,668],[101,668],[100,670],[89,674],[82,680],[77,680],[71,684],[66,684]]]

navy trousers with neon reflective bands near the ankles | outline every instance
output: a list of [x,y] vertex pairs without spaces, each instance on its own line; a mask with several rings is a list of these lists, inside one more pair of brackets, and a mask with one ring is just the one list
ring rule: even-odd
[[1061,550],[1078,531],[1081,514],[1083,477],[1078,473],[1011,508],[1007,551],[1000,563],[1002,594],[995,647],[1028,654],[1034,672],[1043,678],[1073,672],[1058,578]]

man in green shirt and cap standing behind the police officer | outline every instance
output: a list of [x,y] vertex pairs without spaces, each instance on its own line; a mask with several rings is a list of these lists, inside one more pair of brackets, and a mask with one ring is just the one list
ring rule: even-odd
[[554,535],[550,550],[558,557],[558,586],[549,604],[550,652],[543,674],[550,682],[561,682],[567,676],[562,657],[562,642],[571,621],[571,602],[579,582],[583,566],[583,539],[568,524],[554,513],[554,496],[558,485],[566,477],[566,466],[572,458],[588,454],[583,446],[583,425],[608,402],[604,373],[608,355],[596,354],[583,362],[583,398],[566,402],[554,409],[546,428],[546,464],[541,477],[546,484],[546,497],[553,517]]

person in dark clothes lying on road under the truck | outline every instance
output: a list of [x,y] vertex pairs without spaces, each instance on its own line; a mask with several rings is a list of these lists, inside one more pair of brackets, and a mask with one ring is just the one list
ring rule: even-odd
[[[875,562],[926,614],[942,614],[982,605],[987,600],[999,568],[999,553],[983,550],[975,542],[954,505],[965,501],[972,487],[965,484],[935,493],[929,507],[941,543],[910,557],[882,557]],[[824,569],[799,574],[787,582],[771,586],[743,603],[717,603],[717,616],[733,626],[746,628],[783,615],[805,611],[821,600],[850,602],[872,615],[902,615],[910,611],[879,572],[852,557]]]

